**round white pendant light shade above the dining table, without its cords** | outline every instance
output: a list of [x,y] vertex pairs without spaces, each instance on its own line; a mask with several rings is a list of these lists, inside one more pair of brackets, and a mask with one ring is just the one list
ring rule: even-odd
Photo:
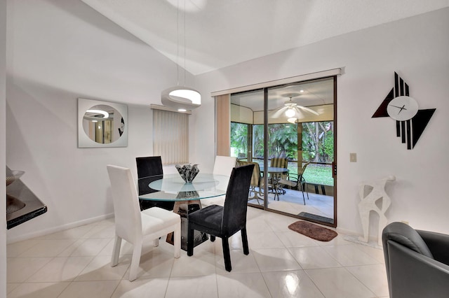
[[201,94],[185,86],[170,87],[161,92],[161,102],[164,106],[176,110],[192,110],[201,106]]

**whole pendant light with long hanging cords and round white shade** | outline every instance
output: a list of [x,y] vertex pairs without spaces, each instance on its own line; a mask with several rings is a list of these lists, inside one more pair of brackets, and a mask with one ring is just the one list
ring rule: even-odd
[[[180,22],[179,22],[180,5],[177,1],[177,59],[180,53]],[[185,84],[185,0],[184,0],[184,84]],[[177,61],[177,85],[170,87],[161,92],[161,102],[164,106],[174,108],[177,111],[185,112],[201,106],[201,94],[191,87],[180,86],[180,65]]]

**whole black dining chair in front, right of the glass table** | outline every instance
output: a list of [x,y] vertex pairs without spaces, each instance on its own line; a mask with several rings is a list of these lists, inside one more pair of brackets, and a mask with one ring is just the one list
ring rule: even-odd
[[231,271],[231,255],[229,253],[230,236],[241,231],[243,253],[250,253],[246,236],[246,210],[251,176],[254,164],[232,169],[227,186],[225,206],[210,205],[188,215],[187,255],[194,254],[194,230],[210,234],[210,241],[215,237],[222,239],[225,269]]

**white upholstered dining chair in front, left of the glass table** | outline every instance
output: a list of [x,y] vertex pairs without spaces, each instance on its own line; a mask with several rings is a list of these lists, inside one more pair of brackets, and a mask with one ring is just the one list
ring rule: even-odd
[[121,239],[125,239],[133,245],[129,281],[134,281],[138,275],[144,237],[152,239],[154,246],[159,246],[159,237],[173,232],[175,257],[180,257],[181,218],[159,207],[140,211],[138,192],[130,169],[108,165],[107,172],[112,186],[116,234],[111,266],[119,264]]

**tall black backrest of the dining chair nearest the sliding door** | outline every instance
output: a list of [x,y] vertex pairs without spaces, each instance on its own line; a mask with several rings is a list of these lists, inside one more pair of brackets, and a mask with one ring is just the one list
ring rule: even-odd
[[222,232],[234,234],[246,227],[246,210],[254,164],[232,169],[223,208]]

